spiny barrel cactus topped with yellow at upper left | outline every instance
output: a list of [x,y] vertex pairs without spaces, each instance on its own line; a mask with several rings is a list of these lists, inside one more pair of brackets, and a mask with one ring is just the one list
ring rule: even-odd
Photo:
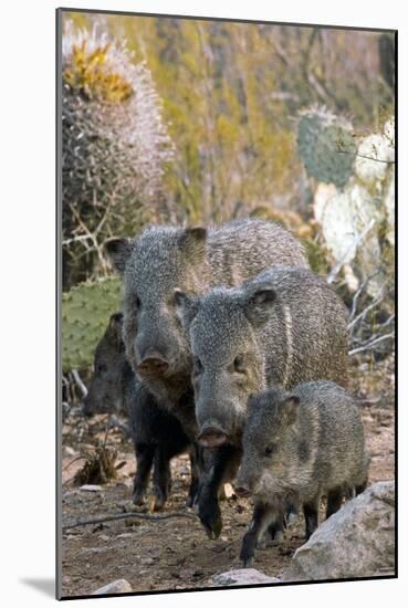
[[165,212],[175,148],[149,70],[100,23],[91,31],[64,23],[62,81],[66,289],[97,276],[107,237],[133,234]]

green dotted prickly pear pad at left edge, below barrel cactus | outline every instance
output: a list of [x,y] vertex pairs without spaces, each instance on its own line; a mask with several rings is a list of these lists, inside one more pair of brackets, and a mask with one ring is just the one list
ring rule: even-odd
[[96,344],[109,316],[122,310],[122,281],[81,283],[62,295],[62,368],[81,369],[93,363]]

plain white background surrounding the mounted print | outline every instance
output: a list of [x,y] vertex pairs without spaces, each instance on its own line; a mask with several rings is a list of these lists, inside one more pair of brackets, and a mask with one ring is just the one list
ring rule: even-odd
[[[327,2],[327,0],[107,1],[76,0],[66,6],[140,12],[196,14],[270,21],[327,23],[399,29],[399,264],[404,270],[408,241],[407,175],[407,40],[404,3]],[[6,2],[1,8],[1,596],[4,606],[35,608],[51,601],[23,580],[51,581],[54,576],[54,8],[59,2]],[[401,273],[402,274],[402,273]],[[404,273],[406,275],[406,273]],[[400,281],[400,515],[407,507],[407,282]],[[404,377],[405,376],[405,377]],[[4,513],[3,513],[4,511]],[[399,580],[325,584],[230,593],[177,594],[112,598],[109,606],[205,606],[208,601],[274,602],[331,607],[369,602],[370,608],[407,597],[407,525],[400,516]],[[50,586],[50,585],[49,585]],[[91,600],[88,600],[91,601]],[[100,599],[98,601],[104,601]],[[349,604],[348,604],[349,602]]]

